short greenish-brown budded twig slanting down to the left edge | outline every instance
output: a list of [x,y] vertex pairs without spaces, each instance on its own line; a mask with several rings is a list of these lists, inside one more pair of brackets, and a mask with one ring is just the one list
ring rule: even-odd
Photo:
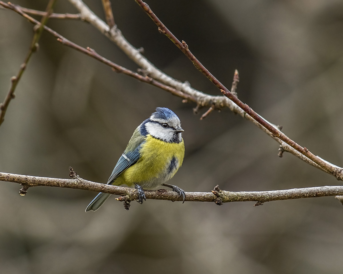
[[13,76],[11,78],[11,82],[12,82],[11,88],[10,88],[5,100],[3,101],[3,103],[0,103],[0,126],[5,119],[5,113],[6,113],[6,110],[8,108],[8,105],[10,104],[10,101],[15,97],[14,96],[15,88],[16,88],[20,78],[22,77],[22,75],[24,73],[24,70],[27,66],[27,63],[30,60],[32,54],[34,52],[36,52],[36,50],[38,49],[38,41],[39,41],[40,35],[42,34],[44,25],[48,22],[49,15],[52,13],[52,8],[54,7],[55,2],[56,2],[56,0],[50,0],[49,1],[47,8],[46,8],[45,15],[43,16],[40,23],[37,22],[36,26],[38,26],[38,27],[34,28],[35,34],[32,38],[32,42],[31,42],[30,48],[28,50],[28,53],[26,55],[26,58],[25,58],[23,64],[21,64],[17,75]]

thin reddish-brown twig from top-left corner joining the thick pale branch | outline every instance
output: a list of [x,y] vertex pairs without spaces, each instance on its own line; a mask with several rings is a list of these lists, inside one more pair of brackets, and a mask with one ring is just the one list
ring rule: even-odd
[[[35,20],[34,18],[32,18],[31,16],[27,15],[26,13],[24,13],[20,8],[18,8],[16,5],[13,4],[8,4],[8,3],[4,3],[2,1],[0,1],[0,5],[2,5],[5,8],[11,9],[17,13],[19,13],[20,15],[24,16],[26,19],[28,19],[31,23],[33,24],[39,24],[39,22],[37,20]],[[76,45],[75,43],[69,41],[68,39],[64,38],[62,35],[58,34],[57,32],[55,32],[54,30],[51,30],[51,28],[44,26],[44,29],[49,32],[50,34],[54,35],[55,37],[57,37],[57,40],[63,44],[66,45],[68,47],[71,47],[73,49],[78,50],[79,52],[82,52],[88,56],[93,57],[94,59],[97,59],[98,61],[110,66],[115,72],[117,73],[123,73],[125,75],[131,76],[135,79],[138,79],[141,82],[145,82],[145,83],[149,83],[151,85],[154,85],[155,87],[161,88],[165,91],[170,92],[173,95],[179,96],[181,98],[184,98],[188,101],[192,101],[192,102],[197,102],[197,98],[195,98],[192,95],[186,94],[184,92],[181,92],[179,90],[176,90],[172,87],[169,87],[163,83],[160,83],[154,79],[152,79],[151,77],[148,76],[143,76],[140,75],[137,72],[133,72],[132,70],[129,70],[127,68],[124,68],[122,66],[119,66],[117,64],[115,64],[114,62],[111,62],[110,60],[100,56],[99,54],[97,54],[93,49],[91,48],[83,48],[79,45]]]

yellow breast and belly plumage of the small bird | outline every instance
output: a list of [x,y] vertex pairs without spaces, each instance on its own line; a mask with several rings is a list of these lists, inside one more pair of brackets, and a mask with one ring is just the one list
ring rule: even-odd
[[185,156],[184,140],[180,143],[168,143],[147,135],[140,149],[137,163],[123,171],[115,184],[142,187],[157,187],[171,177],[181,167]]

